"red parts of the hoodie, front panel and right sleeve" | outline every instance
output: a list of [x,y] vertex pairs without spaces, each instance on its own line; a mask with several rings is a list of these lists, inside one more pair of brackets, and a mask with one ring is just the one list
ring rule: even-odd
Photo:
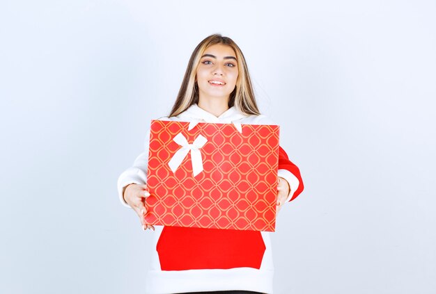
[[[303,181],[281,147],[279,169],[298,178],[299,186],[292,197],[295,199],[304,188]],[[259,269],[265,244],[260,231],[164,227],[156,250],[162,270]]]

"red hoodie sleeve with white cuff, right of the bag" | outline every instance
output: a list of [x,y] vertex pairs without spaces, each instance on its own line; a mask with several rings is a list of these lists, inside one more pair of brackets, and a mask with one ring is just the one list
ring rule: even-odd
[[286,179],[289,183],[290,192],[286,202],[295,199],[304,189],[302,176],[297,165],[290,162],[288,154],[279,147],[279,177]]

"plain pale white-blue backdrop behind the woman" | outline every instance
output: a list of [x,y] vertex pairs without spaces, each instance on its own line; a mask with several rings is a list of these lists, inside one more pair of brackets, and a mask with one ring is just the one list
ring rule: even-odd
[[143,293],[116,179],[192,50],[237,42],[306,189],[275,293],[436,293],[435,1],[1,1],[0,293]]

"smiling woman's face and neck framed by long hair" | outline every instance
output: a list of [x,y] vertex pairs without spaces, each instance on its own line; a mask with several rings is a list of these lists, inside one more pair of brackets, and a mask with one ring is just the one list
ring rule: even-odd
[[224,44],[205,49],[196,69],[198,99],[223,99],[226,103],[238,80],[235,51]]

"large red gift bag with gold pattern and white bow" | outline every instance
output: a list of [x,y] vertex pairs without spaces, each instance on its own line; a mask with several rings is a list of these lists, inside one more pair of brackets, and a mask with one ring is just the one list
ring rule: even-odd
[[153,120],[148,224],[274,231],[279,126]]

